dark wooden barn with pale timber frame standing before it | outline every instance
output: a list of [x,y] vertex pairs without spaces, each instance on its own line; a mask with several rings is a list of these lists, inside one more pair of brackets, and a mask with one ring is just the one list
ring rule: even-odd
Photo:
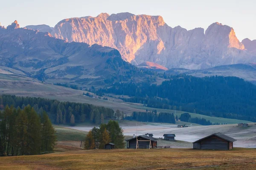
[[[145,141],[145,140],[148,140],[148,141]],[[157,147],[157,139],[156,138],[149,136],[149,135],[138,136],[139,148],[140,149],[148,149],[150,140],[151,140],[151,147],[156,148]],[[127,142],[126,146],[128,149],[136,149],[136,144],[137,144],[136,136],[134,136],[131,139],[126,140],[126,142]]]

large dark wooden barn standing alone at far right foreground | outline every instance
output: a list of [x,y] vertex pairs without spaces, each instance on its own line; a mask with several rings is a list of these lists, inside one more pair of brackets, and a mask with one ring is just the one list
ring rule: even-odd
[[205,138],[193,142],[194,149],[230,150],[233,149],[233,139],[222,133],[214,133]]

